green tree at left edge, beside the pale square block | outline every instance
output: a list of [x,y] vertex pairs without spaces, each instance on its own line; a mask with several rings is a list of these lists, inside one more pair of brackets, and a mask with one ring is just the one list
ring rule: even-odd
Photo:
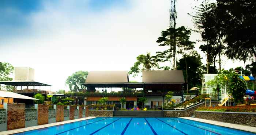
[[0,81],[12,81],[9,77],[14,72],[14,67],[10,63],[0,62]]

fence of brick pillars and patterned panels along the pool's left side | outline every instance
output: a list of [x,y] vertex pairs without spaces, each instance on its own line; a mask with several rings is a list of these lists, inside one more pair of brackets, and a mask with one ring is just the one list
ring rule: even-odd
[[0,131],[37,126],[64,120],[88,117],[88,107],[35,104],[34,108],[25,108],[25,104],[4,103],[0,109]]

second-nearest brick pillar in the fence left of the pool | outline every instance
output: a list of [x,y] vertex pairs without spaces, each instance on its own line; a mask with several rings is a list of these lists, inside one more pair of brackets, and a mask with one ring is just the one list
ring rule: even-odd
[[35,108],[37,109],[37,124],[48,124],[49,105],[35,104]]

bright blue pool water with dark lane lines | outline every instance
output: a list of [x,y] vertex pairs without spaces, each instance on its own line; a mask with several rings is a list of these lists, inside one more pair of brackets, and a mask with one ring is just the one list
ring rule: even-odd
[[255,135],[182,118],[97,117],[17,135]]

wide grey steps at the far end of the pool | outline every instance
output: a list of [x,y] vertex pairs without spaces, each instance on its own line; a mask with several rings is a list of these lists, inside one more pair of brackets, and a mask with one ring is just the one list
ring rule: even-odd
[[163,117],[163,111],[114,111],[114,117]]

